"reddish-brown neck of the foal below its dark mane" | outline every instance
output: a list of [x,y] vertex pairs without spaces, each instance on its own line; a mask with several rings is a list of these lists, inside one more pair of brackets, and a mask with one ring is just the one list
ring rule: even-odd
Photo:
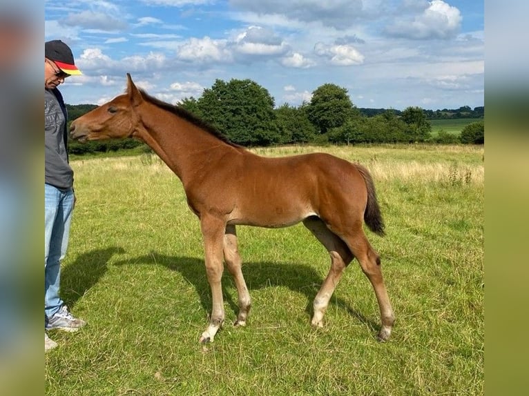
[[142,139],[179,177],[184,185],[215,164],[232,146],[200,126],[151,103],[138,106],[141,127],[135,135]]

